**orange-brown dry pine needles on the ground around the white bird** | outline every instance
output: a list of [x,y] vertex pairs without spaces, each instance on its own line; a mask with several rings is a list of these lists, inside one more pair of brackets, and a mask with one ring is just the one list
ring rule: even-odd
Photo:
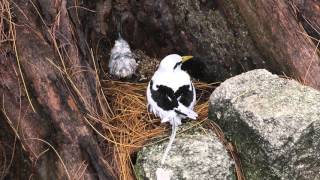
[[[197,104],[195,111],[199,117],[192,121],[192,126],[203,125],[216,132],[221,142],[226,146],[231,157],[238,162],[236,172],[242,177],[240,162],[235,149],[223,136],[217,125],[207,120],[208,100],[215,85],[197,82]],[[95,130],[106,140],[105,159],[112,159],[110,170],[115,178],[134,179],[134,155],[143,146],[151,145],[168,137],[170,126],[161,124],[160,119],[147,112],[147,83],[131,83],[111,79],[101,81],[102,91],[99,95],[104,99],[107,109],[99,118],[91,118],[99,128]],[[97,126],[96,126],[97,127]],[[239,178],[238,178],[239,179]]]

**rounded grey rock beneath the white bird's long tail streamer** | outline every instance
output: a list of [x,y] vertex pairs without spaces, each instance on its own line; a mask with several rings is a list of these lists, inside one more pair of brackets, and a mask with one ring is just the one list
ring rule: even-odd
[[[137,179],[155,180],[156,169],[168,144],[163,141],[146,146],[138,153]],[[211,131],[196,130],[180,134],[163,166],[171,179],[234,179],[234,163],[224,146]]]

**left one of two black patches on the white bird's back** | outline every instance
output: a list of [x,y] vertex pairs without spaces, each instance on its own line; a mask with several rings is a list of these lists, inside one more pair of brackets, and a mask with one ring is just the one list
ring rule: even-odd
[[157,85],[158,90],[152,89],[153,81],[150,81],[150,91],[152,99],[163,110],[173,110],[178,107],[178,100],[175,97],[174,91],[164,85]]

